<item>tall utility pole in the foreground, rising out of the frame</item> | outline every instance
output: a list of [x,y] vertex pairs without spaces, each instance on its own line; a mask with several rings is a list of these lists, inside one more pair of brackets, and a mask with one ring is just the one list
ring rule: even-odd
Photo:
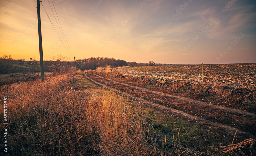
[[38,38],[39,38],[39,55],[40,55],[40,70],[41,70],[41,79],[45,80],[45,71],[44,71],[44,58],[43,58],[43,45],[42,45],[42,32],[41,32],[41,18],[40,18],[40,0],[37,0],[37,22],[38,22]]

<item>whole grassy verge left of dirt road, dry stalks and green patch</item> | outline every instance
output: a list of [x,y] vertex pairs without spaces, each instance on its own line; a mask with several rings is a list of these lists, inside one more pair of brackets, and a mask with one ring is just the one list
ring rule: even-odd
[[[221,142],[217,135],[150,108],[140,116],[136,103],[77,73],[20,83],[0,93],[8,96],[10,155],[187,155],[166,147],[157,135],[200,151]],[[3,140],[3,130],[0,136]]]

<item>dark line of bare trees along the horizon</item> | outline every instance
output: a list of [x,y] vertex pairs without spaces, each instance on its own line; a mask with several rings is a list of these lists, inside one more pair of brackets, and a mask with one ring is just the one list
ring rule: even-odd
[[[44,61],[44,70],[45,71],[53,71],[54,73],[61,74],[70,67],[76,67],[81,70],[94,70],[97,67],[105,67],[110,65],[111,68],[115,67],[122,67],[122,66],[154,66],[154,65],[165,65],[165,64],[156,64],[153,61],[149,63],[136,63],[136,62],[126,62],[122,59],[115,59],[115,58],[108,58],[108,57],[90,57],[90,58],[83,58],[74,61],[68,61],[67,57],[62,55],[53,56],[51,60]],[[7,74],[7,73],[17,73],[20,70],[12,69],[12,63],[15,64],[27,64],[27,65],[38,65],[40,64],[39,61],[36,59],[30,58],[30,61],[25,62],[24,58],[20,58],[18,60],[14,60],[11,55],[3,55],[0,57],[0,74]],[[20,66],[22,68],[23,66]],[[31,66],[32,67],[32,66]],[[11,70],[12,69],[12,70]],[[36,71],[40,70],[39,68]]]

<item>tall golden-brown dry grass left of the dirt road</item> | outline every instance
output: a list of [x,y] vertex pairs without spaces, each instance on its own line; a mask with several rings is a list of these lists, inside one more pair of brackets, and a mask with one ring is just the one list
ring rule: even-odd
[[[70,73],[21,83],[4,94],[8,96],[11,155],[157,153],[146,147],[148,126],[126,98],[102,89],[81,90]],[[0,135],[2,140],[3,131]]]

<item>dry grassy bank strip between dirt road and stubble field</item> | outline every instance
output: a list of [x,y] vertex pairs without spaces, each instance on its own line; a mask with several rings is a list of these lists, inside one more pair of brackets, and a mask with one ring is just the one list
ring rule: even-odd
[[238,110],[256,113],[256,90],[223,86],[195,81],[170,81],[169,79],[149,78],[144,76],[122,75],[120,73],[100,73],[105,78],[123,82],[131,86],[146,87],[209,104],[225,106]]

